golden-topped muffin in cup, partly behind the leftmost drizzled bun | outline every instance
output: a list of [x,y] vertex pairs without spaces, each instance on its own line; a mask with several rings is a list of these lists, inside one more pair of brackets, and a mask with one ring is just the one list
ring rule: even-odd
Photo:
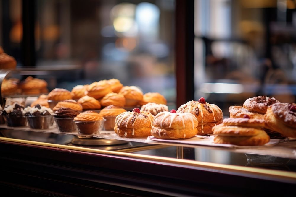
[[109,105],[102,109],[100,111],[100,114],[106,119],[106,122],[104,123],[104,129],[105,130],[113,130],[115,126],[115,118],[119,114],[126,112],[125,109],[115,106],[115,105]]

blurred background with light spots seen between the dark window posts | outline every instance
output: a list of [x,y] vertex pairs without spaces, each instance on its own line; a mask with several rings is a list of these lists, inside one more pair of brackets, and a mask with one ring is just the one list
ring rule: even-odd
[[257,95],[295,102],[295,0],[195,0],[194,38],[187,40],[194,65],[174,64],[175,40],[183,39],[175,34],[182,30],[175,29],[174,0],[30,1],[35,61],[23,65],[24,2],[0,0],[0,45],[19,67],[72,68],[36,76],[50,90],[117,78],[175,102],[175,68],[193,66],[192,98],[205,97],[224,115]]

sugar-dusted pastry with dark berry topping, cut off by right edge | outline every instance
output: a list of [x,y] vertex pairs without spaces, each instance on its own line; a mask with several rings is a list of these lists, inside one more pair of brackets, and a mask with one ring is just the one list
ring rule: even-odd
[[274,103],[264,115],[266,127],[287,137],[296,137],[296,104]]

